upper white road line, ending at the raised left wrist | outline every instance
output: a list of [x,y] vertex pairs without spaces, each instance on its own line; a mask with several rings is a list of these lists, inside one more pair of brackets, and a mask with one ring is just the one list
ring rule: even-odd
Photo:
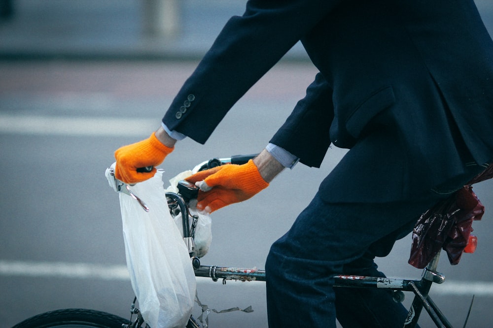
[[0,115],[0,133],[65,136],[142,136],[159,119]]

